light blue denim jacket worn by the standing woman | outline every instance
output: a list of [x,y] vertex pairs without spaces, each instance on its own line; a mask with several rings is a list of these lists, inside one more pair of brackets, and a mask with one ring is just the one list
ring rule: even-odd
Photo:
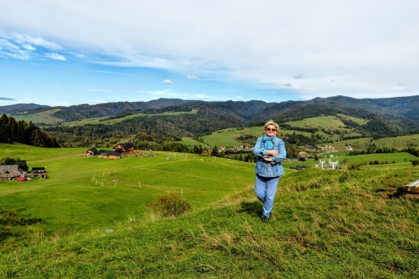
[[[258,156],[256,162],[255,172],[256,174],[263,174],[266,168],[266,164],[272,165],[272,171],[274,176],[281,176],[284,174],[284,167],[282,167],[281,161],[286,158],[285,142],[277,137],[274,137],[274,151],[278,152],[277,156],[267,156],[265,150],[265,144],[263,144],[263,137],[259,137],[256,141],[256,145],[253,148],[253,154]],[[272,158],[273,162],[263,162],[263,158]]]

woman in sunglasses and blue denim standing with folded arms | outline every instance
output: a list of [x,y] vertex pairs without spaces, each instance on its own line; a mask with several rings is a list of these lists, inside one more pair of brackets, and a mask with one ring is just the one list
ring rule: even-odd
[[270,120],[264,126],[265,134],[259,137],[253,149],[258,156],[256,162],[256,196],[263,202],[263,222],[269,219],[274,207],[274,196],[277,193],[279,178],[284,174],[281,161],[286,158],[285,143],[276,137],[279,126]]

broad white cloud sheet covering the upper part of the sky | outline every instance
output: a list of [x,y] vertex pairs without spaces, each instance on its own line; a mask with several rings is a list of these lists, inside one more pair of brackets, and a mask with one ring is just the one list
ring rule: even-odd
[[[93,53],[101,59],[91,61],[105,66],[286,88],[298,98],[398,96],[407,87],[397,86],[401,80],[419,93],[416,0],[215,0],[182,8],[175,1],[4,2],[3,57],[30,59],[40,47],[59,50],[50,57],[59,60],[70,51]],[[101,13],[92,13],[98,6]]]

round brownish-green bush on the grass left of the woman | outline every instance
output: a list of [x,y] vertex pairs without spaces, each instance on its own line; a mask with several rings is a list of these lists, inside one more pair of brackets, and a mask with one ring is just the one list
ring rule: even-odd
[[156,197],[156,201],[152,202],[150,206],[154,211],[159,211],[163,217],[181,216],[191,209],[185,199],[174,193]]

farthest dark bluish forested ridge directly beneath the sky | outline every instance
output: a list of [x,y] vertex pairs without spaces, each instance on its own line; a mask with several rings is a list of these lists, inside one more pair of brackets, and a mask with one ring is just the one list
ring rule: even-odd
[[[352,109],[358,113],[371,112],[388,119],[419,119],[419,96],[378,98],[378,99],[357,99],[345,96],[335,96],[328,98],[314,98],[306,101],[286,101],[282,103],[266,103],[260,100],[226,101],[226,102],[205,102],[202,100],[182,100],[160,98],[148,102],[117,102],[102,103],[97,105],[73,105],[71,107],[48,107],[35,104],[19,104],[10,106],[0,106],[0,112],[7,112],[13,116],[41,112],[42,110],[52,110],[59,108],[53,116],[62,121],[75,121],[80,119],[94,118],[100,116],[115,116],[117,114],[133,114],[135,112],[152,113],[152,110],[165,109],[170,111],[175,106],[207,108],[218,114],[235,114],[244,121],[260,121],[266,118],[275,117],[309,117],[304,115],[306,112],[314,112],[316,106],[302,107],[308,105],[330,104],[324,106],[323,110],[346,110]],[[340,105],[336,107],[336,105]],[[335,106],[335,108],[334,108]],[[320,106],[321,107],[321,106]],[[346,107],[346,108],[344,108]],[[316,110],[322,110],[317,109]],[[29,112],[28,112],[29,111]],[[161,111],[161,110],[160,110]],[[311,115],[311,114],[310,114]],[[311,115],[312,116],[312,115]]]

